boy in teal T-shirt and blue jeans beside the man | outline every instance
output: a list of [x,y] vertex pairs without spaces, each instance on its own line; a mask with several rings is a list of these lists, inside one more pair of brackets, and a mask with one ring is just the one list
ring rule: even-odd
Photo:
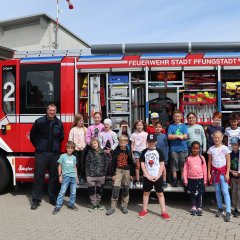
[[76,200],[76,186],[77,186],[77,167],[76,167],[76,157],[73,155],[75,150],[75,144],[71,141],[67,142],[66,145],[67,153],[64,153],[58,159],[58,175],[59,182],[61,185],[61,190],[58,194],[56,206],[52,212],[53,215],[57,214],[63,204],[63,198],[70,185],[70,197],[68,203],[68,209],[77,211],[78,208],[74,205]]

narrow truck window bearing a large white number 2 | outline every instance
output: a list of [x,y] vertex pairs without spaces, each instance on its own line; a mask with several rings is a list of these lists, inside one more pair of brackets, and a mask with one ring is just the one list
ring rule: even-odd
[[15,87],[16,87],[16,67],[15,66],[3,66],[2,69],[2,106],[6,114],[15,114],[16,113],[16,96],[15,96]]

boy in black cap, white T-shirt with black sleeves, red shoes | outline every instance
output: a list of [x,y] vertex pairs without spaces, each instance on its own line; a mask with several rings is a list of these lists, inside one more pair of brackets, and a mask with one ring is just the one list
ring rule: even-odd
[[166,212],[165,198],[163,194],[163,167],[164,156],[162,152],[156,148],[157,137],[155,134],[148,134],[147,136],[148,147],[143,150],[140,161],[143,171],[143,209],[139,212],[138,217],[144,218],[147,214],[147,207],[150,192],[155,188],[158,196],[159,204],[161,207],[161,218],[166,221],[170,220],[170,216]]

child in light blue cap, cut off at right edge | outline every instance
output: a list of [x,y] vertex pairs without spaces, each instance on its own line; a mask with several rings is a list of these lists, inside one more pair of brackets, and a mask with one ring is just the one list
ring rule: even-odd
[[238,137],[232,137],[230,139],[230,144],[232,148],[232,152],[230,153],[231,158],[231,165],[230,165],[230,183],[232,188],[232,206],[234,208],[233,210],[233,216],[238,217],[240,215],[240,212],[238,209],[240,208],[240,181],[239,181],[239,174],[240,174],[240,168],[239,168],[239,138]]

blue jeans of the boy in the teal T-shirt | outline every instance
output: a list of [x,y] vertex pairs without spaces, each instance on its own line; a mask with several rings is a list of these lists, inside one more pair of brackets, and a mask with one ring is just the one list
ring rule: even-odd
[[68,186],[70,185],[70,197],[68,205],[72,207],[76,200],[76,177],[63,176],[63,181],[61,185],[61,190],[58,194],[56,207],[61,208],[63,203],[63,198],[67,191]]

